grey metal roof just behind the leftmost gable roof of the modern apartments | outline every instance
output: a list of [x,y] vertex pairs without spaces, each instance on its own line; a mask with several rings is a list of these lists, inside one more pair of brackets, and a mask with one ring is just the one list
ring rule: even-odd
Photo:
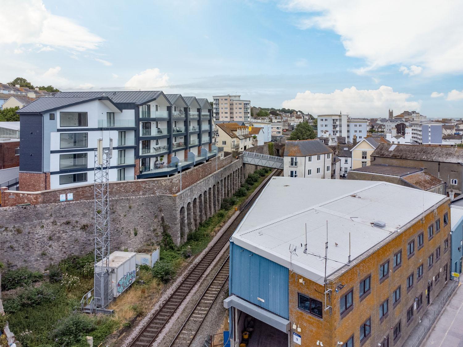
[[145,102],[156,99],[161,91],[121,91],[121,92],[59,92],[56,97],[69,97],[69,96],[80,96],[80,97],[97,97],[106,96],[113,100],[116,104],[135,104],[142,105]]

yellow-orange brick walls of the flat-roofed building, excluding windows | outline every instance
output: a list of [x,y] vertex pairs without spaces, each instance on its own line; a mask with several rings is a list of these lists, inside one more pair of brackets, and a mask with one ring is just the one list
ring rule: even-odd
[[[405,198],[405,197],[404,197]],[[384,337],[389,338],[388,346],[403,346],[408,335],[419,322],[426,310],[426,290],[428,283],[432,283],[430,302],[434,300],[449,279],[450,263],[450,208],[449,199],[444,200],[436,211],[426,211],[424,222],[417,218],[414,223],[402,230],[392,239],[380,243],[365,254],[363,260],[354,260],[351,266],[342,273],[334,274],[328,279],[328,287],[333,292],[329,300],[331,310],[323,312],[323,319],[298,308],[298,293],[325,302],[325,288],[297,273],[289,275],[289,320],[291,325],[299,325],[301,331],[291,329],[291,346],[299,346],[293,342],[293,332],[301,335],[302,346],[317,346],[321,341],[324,346],[337,346],[338,341],[343,346],[351,336],[354,336],[354,346],[376,347],[383,343]],[[444,225],[444,214],[448,223]],[[440,230],[436,231],[436,221],[440,220]],[[433,225],[434,235],[428,239],[428,226]],[[372,229],[374,232],[374,229]],[[418,235],[423,233],[424,245],[418,248]],[[407,256],[408,243],[414,240],[414,253]],[[445,240],[448,240],[446,247]],[[436,259],[436,249],[440,247],[440,257]],[[394,254],[401,251],[400,266],[393,268]],[[428,267],[428,257],[433,254],[433,265]],[[329,253],[328,253],[329,257]],[[389,260],[389,273],[380,281],[379,268]],[[423,275],[417,280],[417,268],[423,264]],[[447,266],[447,267],[446,267]],[[345,267],[344,267],[345,269]],[[407,278],[413,273],[413,287],[407,290]],[[438,276],[437,276],[438,275]],[[369,293],[359,297],[359,284],[366,277],[371,276]],[[303,279],[304,283],[300,283]],[[332,280],[332,281],[330,281]],[[429,281],[429,282],[428,282]],[[344,286],[344,287],[342,287]],[[400,286],[400,300],[393,305],[393,293]],[[338,288],[338,293],[335,289]],[[340,299],[353,290],[353,307],[340,314]],[[413,309],[413,318],[407,322],[407,310],[413,306],[415,297],[422,294],[422,305],[419,310]],[[379,307],[388,299],[388,313],[381,320]],[[324,306],[323,306],[324,308]],[[371,317],[371,333],[360,342],[360,326]],[[394,326],[401,322],[401,334],[394,341]]]

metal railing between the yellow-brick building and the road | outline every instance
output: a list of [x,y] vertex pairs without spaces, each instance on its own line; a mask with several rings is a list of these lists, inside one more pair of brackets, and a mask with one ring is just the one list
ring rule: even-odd
[[434,299],[430,307],[428,307],[426,310],[425,315],[421,317],[421,323],[419,323],[419,326],[413,329],[414,332],[412,335],[416,335],[416,337],[413,338],[413,336],[410,335],[406,341],[407,343],[404,344],[404,346],[419,347],[421,345],[421,342],[423,342],[423,339],[431,329],[432,324],[434,324],[437,317],[444,309],[447,300],[449,299],[450,295],[452,295],[453,291],[455,291],[457,286],[457,281],[449,281],[447,287],[443,289],[444,295],[439,295],[440,297]]

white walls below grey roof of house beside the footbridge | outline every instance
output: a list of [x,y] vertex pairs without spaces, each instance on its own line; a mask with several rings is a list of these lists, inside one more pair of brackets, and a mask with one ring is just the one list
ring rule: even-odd
[[332,153],[284,157],[285,177],[331,179]]

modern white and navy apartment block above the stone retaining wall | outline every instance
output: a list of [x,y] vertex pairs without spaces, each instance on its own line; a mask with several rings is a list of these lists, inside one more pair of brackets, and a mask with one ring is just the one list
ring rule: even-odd
[[176,174],[218,153],[206,99],[162,91],[61,92],[18,113],[25,191],[93,183],[99,138],[105,147],[113,141],[111,181]]

